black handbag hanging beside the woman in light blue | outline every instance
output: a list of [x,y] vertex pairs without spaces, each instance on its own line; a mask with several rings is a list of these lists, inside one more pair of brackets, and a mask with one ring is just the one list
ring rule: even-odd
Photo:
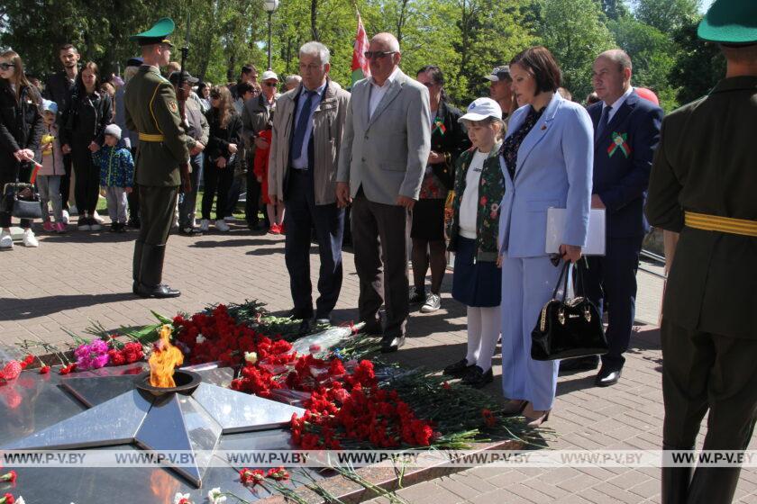
[[[570,262],[562,266],[560,278],[552,292],[552,300],[544,305],[539,320],[536,320],[536,327],[531,332],[531,358],[535,361],[607,354],[607,338],[599,311],[594,303],[579,293],[579,290],[583,290],[579,267],[576,268],[576,297],[567,301],[565,299],[570,267]],[[562,298],[558,299],[560,284]]]

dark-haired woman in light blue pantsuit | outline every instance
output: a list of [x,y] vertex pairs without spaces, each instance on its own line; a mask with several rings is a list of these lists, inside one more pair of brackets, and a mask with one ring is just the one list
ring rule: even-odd
[[549,418],[559,361],[531,358],[531,331],[560,275],[545,252],[547,209],[565,208],[561,257],[581,257],[588,229],[593,128],[588,113],[557,94],[560,68],[546,48],[510,62],[518,105],[500,149],[505,196],[500,205],[502,388],[506,409],[537,427]]

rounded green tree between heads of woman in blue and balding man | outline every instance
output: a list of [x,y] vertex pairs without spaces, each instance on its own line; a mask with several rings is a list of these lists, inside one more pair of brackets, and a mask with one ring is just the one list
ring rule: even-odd
[[596,0],[546,0],[539,35],[562,69],[563,86],[581,99],[591,92],[591,65],[615,40]]

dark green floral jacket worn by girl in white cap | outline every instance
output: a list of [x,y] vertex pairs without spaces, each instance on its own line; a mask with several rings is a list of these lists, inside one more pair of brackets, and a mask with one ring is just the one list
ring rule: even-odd
[[[499,147],[502,142],[497,142],[484,161],[479,180],[479,214],[476,217],[476,261],[494,263],[497,261],[497,233],[499,231],[499,203],[505,195],[505,179],[499,167]],[[455,192],[452,199],[452,219],[448,236],[450,237],[449,250],[457,249],[457,240],[460,236],[460,202],[462,193],[465,192],[465,177],[468,174],[468,166],[473,158],[476,148],[470,148],[463,152],[457,160],[455,169]]]

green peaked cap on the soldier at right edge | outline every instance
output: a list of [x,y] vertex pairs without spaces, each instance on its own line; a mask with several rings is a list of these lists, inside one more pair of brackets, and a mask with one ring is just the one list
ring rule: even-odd
[[711,42],[757,43],[757,0],[716,0],[697,33]]

